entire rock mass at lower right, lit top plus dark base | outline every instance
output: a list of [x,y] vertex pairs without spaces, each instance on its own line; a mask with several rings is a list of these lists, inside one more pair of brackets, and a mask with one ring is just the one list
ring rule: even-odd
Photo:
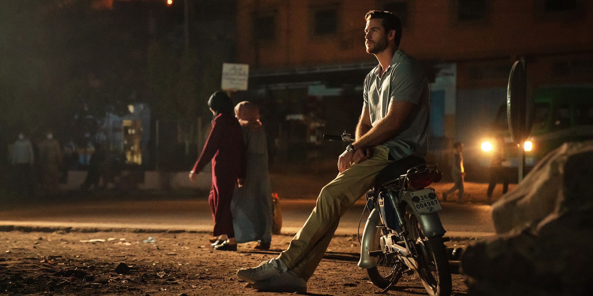
[[565,143],[493,205],[497,236],[468,247],[470,295],[590,295],[593,141]]

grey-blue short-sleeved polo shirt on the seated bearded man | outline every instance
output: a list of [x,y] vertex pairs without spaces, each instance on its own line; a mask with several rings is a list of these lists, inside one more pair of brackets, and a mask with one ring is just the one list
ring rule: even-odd
[[422,65],[397,50],[382,77],[380,73],[381,65],[377,65],[366,75],[364,83],[363,108],[368,108],[372,126],[387,115],[389,104],[393,101],[415,105],[405,121],[404,130],[382,146],[387,146],[396,160],[410,155],[426,157],[430,102],[428,79]]

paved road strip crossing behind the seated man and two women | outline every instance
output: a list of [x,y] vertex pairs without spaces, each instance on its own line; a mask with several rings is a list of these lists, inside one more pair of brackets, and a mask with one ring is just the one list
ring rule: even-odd
[[[281,200],[283,233],[296,233],[315,206],[313,199]],[[451,236],[483,236],[493,231],[490,206],[443,202],[442,223]],[[354,234],[363,213],[359,200],[342,217],[336,233]],[[362,227],[368,212],[365,211]],[[78,201],[19,202],[0,208],[0,225],[126,227],[141,229],[212,230],[206,200],[122,200],[84,198]]]

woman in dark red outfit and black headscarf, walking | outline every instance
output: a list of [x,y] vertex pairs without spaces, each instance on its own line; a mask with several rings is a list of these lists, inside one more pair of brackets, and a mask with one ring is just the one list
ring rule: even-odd
[[212,188],[208,203],[214,218],[213,244],[216,250],[237,250],[232,226],[231,198],[235,185],[243,186],[246,175],[245,153],[241,126],[235,118],[234,105],[224,92],[215,92],[208,100],[214,114],[212,131],[206,140],[202,154],[189,173],[195,181],[200,172],[212,160]]

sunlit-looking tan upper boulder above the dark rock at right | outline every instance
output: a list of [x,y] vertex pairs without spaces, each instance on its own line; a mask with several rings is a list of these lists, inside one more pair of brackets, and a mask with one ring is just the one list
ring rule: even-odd
[[592,166],[593,141],[565,143],[550,152],[514,191],[492,205],[496,233],[535,230],[550,214],[593,200],[587,188],[593,180],[586,179]]

